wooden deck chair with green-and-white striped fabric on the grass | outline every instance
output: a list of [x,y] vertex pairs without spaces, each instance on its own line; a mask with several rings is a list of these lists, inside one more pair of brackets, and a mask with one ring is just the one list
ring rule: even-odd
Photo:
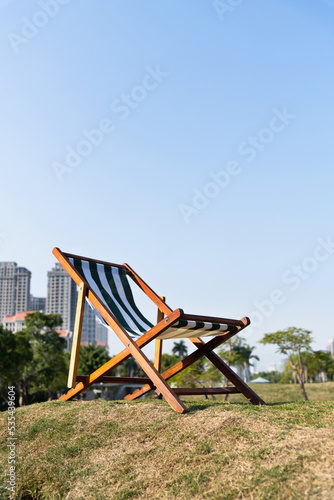
[[[138,274],[127,264],[111,264],[99,260],[80,257],[53,249],[53,254],[79,287],[76,318],[73,332],[71,360],[68,374],[69,390],[63,394],[62,401],[78,396],[96,382],[137,383],[140,389],[125,396],[136,399],[151,390],[164,397],[174,410],[185,413],[187,407],[180,395],[242,393],[255,405],[264,401],[214,353],[214,349],[233,335],[246,328],[248,318],[240,320],[185,314],[182,309],[173,310],[163,297],[157,295]],[[137,307],[129,279],[133,280],[158,308],[157,324],[148,321]],[[81,329],[85,301],[95,309],[100,321],[110,327],[124,344],[124,349],[103,366],[88,375],[77,375]],[[204,342],[201,337],[213,337]],[[163,339],[189,338],[196,350],[160,373]],[[145,356],[142,348],[155,340],[154,363]],[[106,374],[133,356],[147,377],[111,377]],[[171,388],[167,380],[181,372],[198,359],[206,356],[233,387],[218,388]]]

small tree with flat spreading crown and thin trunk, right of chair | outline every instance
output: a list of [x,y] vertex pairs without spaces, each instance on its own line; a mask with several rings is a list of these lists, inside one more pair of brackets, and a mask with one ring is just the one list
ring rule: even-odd
[[304,366],[301,359],[302,349],[311,352],[312,337],[309,330],[290,327],[274,333],[266,333],[261,344],[277,346],[277,352],[288,356],[291,368],[294,370],[305,401],[308,397],[304,385]]

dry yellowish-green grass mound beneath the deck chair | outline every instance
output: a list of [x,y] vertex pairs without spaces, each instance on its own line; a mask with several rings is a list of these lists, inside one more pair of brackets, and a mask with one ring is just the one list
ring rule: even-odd
[[187,399],[185,415],[153,399],[19,408],[12,498],[333,499],[334,383],[308,386],[310,402],[295,386],[256,388],[270,405],[233,396]]

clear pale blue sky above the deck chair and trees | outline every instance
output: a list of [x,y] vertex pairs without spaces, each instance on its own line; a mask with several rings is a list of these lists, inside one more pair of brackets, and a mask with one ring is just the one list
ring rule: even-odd
[[172,307],[250,316],[252,345],[297,326],[324,349],[333,21],[330,0],[0,1],[0,260],[37,296],[54,246],[128,262]]

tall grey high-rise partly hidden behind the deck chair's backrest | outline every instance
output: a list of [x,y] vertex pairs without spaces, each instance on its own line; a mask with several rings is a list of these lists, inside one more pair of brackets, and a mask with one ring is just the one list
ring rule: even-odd
[[[77,307],[77,286],[57,262],[48,272],[46,314],[60,314],[63,320],[62,330],[73,332]],[[92,344],[95,342],[95,314],[88,304],[85,306],[81,340]],[[69,348],[72,345],[70,338]]]

